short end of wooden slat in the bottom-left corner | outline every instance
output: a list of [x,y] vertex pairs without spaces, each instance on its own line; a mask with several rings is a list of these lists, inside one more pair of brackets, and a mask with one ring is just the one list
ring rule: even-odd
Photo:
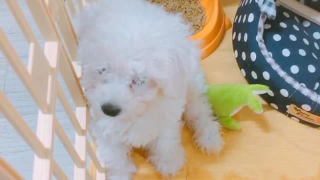
[[0,177],[5,180],[23,180],[24,178],[7,163],[2,157],[0,157]]

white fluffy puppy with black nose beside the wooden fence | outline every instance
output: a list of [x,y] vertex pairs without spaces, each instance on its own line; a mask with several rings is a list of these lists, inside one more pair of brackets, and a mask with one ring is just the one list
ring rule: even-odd
[[223,146],[190,25],[145,0],[99,0],[75,18],[81,83],[91,107],[90,127],[109,179],[131,179],[132,147],[163,176],[184,165],[181,116],[195,145]]

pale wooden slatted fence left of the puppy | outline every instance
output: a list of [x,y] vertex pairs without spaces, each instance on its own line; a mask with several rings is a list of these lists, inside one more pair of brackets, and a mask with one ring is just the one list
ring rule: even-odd
[[[33,180],[51,179],[52,175],[58,179],[68,179],[52,156],[54,133],[74,162],[73,179],[105,179],[104,168],[96,156],[96,145],[94,142],[90,144],[87,138],[89,110],[78,80],[81,68],[74,63],[78,41],[69,14],[79,12],[91,1],[94,0],[77,0],[75,5],[73,0],[66,0],[65,3],[63,0],[25,0],[43,36],[43,49],[18,1],[6,0],[29,43],[27,68],[1,27],[0,48],[39,107],[36,134],[1,90],[0,111],[35,153]],[[75,103],[75,112],[57,80],[58,72]],[[75,130],[74,146],[55,115],[57,98]],[[89,170],[86,168],[87,152],[91,157]],[[3,158],[0,158],[0,177],[23,179]]]

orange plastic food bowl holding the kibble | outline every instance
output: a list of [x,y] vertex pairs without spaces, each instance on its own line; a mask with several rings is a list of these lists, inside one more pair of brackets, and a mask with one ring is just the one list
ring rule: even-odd
[[200,0],[206,19],[202,30],[191,36],[193,40],[202,40],[202,59],[210,55],[220,44],[224,33],[231,28],[231,21],[225,16],[220,0]]

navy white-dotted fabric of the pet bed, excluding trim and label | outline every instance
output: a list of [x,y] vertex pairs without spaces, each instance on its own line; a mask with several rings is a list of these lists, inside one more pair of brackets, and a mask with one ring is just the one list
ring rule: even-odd
[[[248,16],[253,16],[253,19],[249,20]],[[320,104],[286,83],[264,59],[255,38],[259,16],[260,11],[255,0],[249,0],[247,3],[240,2],[233,23],[232,39],[236,61],[242,75],[249,83],[268,85],[272,92],[263,94],[262,97],[285,115],[291,116],[286,112],[289,104],[295,104],[313,114],[320,115]],[[246,19],[243,20],[243,17]],[[320,33],[319,25],[307,21],[284,7],[277,6],[276,19],[267,19],[265,22],[263,38],[268,51],[285,72],[320,94],[320,87],[317,87],[320,82],[318,33]],[[286,56],[287,51],[290,52],[289,56]],[[302,119],[292,118],[301,123],[319,127]]]

